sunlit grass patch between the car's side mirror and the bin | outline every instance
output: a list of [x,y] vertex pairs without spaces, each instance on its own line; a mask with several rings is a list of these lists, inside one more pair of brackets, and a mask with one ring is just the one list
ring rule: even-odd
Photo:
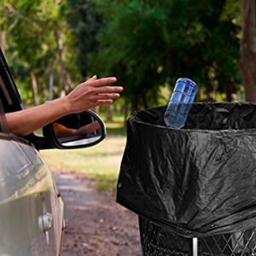
[[53,171],[78,172],[96,181],[99,191],[116,191],[119,167],[125,149],[123,119],[107,123],[107,137],[90,148],[50,149],[41,152]]

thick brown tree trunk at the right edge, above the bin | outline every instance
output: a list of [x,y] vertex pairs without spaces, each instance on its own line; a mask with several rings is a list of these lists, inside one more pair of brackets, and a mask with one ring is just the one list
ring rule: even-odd
[[247,102],[256,102],[256,1],[242,0],[240,67]]

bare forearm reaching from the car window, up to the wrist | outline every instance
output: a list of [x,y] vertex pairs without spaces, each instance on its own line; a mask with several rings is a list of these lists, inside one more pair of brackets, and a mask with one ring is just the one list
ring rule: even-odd
[[69,111],[66,98],[63,97],[34,108],[6,113],[6,119],[9,131],[22,136],[67,115]]

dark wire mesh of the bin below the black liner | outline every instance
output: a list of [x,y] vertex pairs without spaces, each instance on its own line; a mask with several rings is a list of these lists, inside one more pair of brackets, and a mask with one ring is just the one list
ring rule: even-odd
[[[192,256],[192,239],[177,236],[139,217],[144,256]],[[256,256],[256,229],[198,238],[199,256]]]

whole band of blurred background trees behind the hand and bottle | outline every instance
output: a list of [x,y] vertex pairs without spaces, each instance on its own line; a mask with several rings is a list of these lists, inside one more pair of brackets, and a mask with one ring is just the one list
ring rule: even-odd
[[199,84],[197,101],[241,100],[243,35],[241,71],[253,100],[253,21],[244,19],[241,33],[248,4],[241,13],[236,0],[2,0],[1,45],[27,103],[49,97],[49,74],[54,96],[93,74],[115,75],[125,91],[114,108],[131,111],[166,104],[183,76]]

